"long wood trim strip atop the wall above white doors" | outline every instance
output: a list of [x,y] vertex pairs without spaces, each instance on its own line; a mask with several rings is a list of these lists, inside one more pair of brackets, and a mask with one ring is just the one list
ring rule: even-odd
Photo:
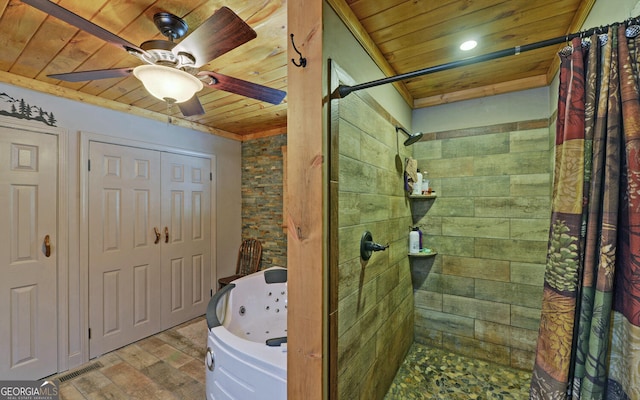
[[37,81],[35,79],[25,78],[10,72],[0,71],[0,82],[21,88],[35,90],[37,92],[50,94],[56,97],[62,97],[69,100],[79,101],[82,103],[92,104],[98,107],[108,108],[114,111],[120,111],[127,114],[135,115],[142,118],[153,119],[161,122],[169,122],[171,125],[182,128],[192,129],[227,139],[242,141],[242,135],[237,133],[223,131],[221,129],[210,128],[186,119],[170,117],[162,113],[145,110],[144,108],[119,103],[113,100],[107,100],[87,93],[78,92],[62,86],[56,86],[50,83]]

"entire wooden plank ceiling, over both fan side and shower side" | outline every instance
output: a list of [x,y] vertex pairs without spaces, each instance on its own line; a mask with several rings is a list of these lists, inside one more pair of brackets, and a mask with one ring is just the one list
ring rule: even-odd
[[[594,0],[327,0],[382,71],[396,75],[575,32]],[[202,66],[235,78],[287,90],[285,0],[59,0],[60,6],[140,45],[164,39],[153,23],[159,11],[182,17],[193,32],[222,6],[246,21],[257,38]],[[278,105],[205,87],[205,114],[183,117],[150,96],[133,77],[64,82],[47,77],[73,71],[135,67],[122,48],[22,3],[0,0],[0,81],[139,114],[213,134],[247,140],[286,131],[287,102]],[[479,42],[468,53],[466,39]],[[547,85],[558,47],[430,74],[396,87],[412,107],[425,107]],[[293,50],[290,50],[293,52]],[[297,57],[297,56],[296,56]]]

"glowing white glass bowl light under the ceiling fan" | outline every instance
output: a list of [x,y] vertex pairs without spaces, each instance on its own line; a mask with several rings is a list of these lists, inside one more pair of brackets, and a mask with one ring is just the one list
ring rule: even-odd
[[203,88],[202,82],[195,76],[162,65],[139,65],[133,69],[133,75],[152,96],[163,101],[171,99],[175,103],[182,103]]

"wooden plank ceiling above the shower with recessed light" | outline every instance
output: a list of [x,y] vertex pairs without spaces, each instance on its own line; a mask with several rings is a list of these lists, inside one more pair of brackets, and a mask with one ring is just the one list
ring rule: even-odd
[[[387,75],[577,32],[595,0],[328,0]],[[473,39],[478,46],[463,52]],[[558,46],[395,84],[413,108],[546,86]]]

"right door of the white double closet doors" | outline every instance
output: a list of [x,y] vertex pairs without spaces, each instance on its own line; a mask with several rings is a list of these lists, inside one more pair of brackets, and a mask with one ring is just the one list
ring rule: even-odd
[[203,315],[211,290],[209,159],[162,153],[162,325]]

